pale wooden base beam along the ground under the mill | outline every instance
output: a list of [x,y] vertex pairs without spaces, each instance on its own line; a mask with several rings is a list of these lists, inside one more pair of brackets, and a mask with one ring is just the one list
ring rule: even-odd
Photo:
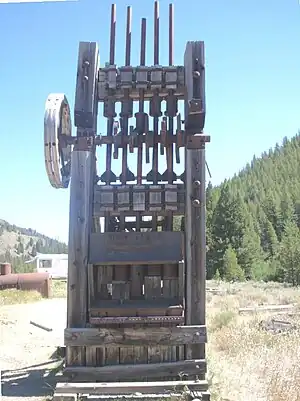
[[57,383],[53,401],[134,399],[210,400],[206,380],[119,383]]

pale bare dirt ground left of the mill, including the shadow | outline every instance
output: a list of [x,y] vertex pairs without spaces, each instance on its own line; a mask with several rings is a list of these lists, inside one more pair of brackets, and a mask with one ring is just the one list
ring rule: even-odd
[[1,401],[45,400],[53,393],[60,363],[53,354],[63,345],[66,307],[66,299],[0,307]]

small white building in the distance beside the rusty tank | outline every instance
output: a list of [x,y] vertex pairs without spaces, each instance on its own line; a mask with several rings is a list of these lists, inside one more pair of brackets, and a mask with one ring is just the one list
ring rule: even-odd
[[52,278],[68,277],[68,255],[54,253],[38,253],[26,263],[36,263],[38,273],[49,273]]

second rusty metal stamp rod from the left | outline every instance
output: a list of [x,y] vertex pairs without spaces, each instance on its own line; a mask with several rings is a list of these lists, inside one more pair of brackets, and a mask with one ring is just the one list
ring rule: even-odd
[[[127,7],[127,21],[126,21],[126,46],[125,46],[125,66],[130,66],[130,57],[131,57],[131,20],[132,20],[132,8],[130,6]],[[132,117],[133,112],[133,101],[129,97],[129,90],[124,89],[124,99],[121,102],[121,113],[120,116],[123,119],[123,128],[122,128],[122,136],[128,135],[128,125],[129,118]],[[127,144],[122,144],[123,153],[122,153],[122,173],[120,176],[121,182],[123,185],[126,184],[127,179],[132,181],[134,179],[134,175],[128,169],[127,164]]]

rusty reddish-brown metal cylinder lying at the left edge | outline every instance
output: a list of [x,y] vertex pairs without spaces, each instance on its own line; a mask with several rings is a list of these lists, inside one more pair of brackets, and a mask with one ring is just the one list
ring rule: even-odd
[[20,273],[0,276],[0,290],[35,290],[44,298],[51,295],[51,280],[48,273]]

